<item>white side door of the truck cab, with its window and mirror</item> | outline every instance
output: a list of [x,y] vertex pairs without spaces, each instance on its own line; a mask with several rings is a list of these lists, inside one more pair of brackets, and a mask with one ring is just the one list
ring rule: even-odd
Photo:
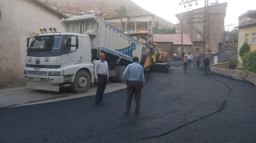
[[[76,45],[76,52],[71,53],[71,37],[72,36],[66,36],[65,37],[65,45],[63,46],[66,54],[63,54],[61,56],[61,67],[64,70],[64,75],[67,74],[74,74],[77,68],[75,66],[69,66],[73,64],[81,63],[81,45],[77,37],[77,45]],[[68,66],[68,67],[67,67]]]

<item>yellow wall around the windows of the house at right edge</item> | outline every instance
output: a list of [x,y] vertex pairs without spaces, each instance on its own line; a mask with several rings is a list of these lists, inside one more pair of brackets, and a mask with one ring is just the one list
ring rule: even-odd
[[252,44],[252,33],[256,33],[256,26],[250,26],[245,28],[238,29],[238,47],[237,47],[237,58],[242,63],[241,57],[239,56],[239,50],[244,44],[245,34],[249,34],[249,45],[251,47],[251,51],[256,50],[256,44]]

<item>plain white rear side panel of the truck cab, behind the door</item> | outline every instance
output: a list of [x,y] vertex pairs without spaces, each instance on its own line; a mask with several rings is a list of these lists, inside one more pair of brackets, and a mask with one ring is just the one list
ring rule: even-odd
[[91,45],[89,37],[80,36],[82,63],[91,63]]

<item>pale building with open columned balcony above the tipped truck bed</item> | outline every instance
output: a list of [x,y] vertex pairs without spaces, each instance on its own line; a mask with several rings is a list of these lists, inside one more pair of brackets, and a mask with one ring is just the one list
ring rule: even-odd
[[153,14],[138,15],[138,16],[116,16],[112,18],[105,18],[107,22],[119,29],[125,29],[125,31],[132,30],[147,30],[152,32],[153,27]]

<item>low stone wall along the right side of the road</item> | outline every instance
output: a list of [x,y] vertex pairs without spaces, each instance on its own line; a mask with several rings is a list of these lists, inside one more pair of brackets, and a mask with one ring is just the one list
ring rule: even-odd
[[237,70],[237,69],[223,69],[223,68],[216,68],[211,66],[211,72],[222,74],[225,76],[231,76],[234,79],[238,80],[245,80],[251,83],[254,83],[256,86],[256,73],[245,71],[245,70]]

